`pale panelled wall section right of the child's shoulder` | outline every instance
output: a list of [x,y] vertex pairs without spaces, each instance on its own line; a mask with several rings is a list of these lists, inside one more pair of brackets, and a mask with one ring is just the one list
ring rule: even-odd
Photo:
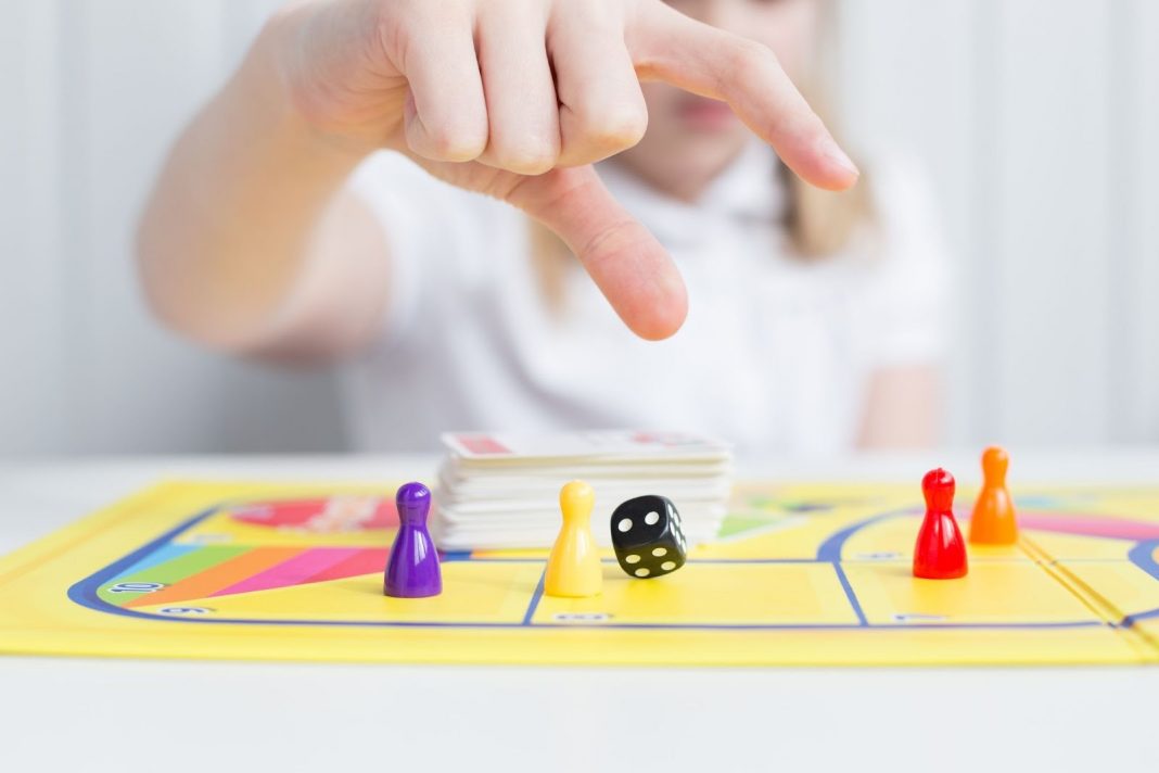
[[847,0],[858,136],[938,175],[953,437],[1159,439],[1159,3]]

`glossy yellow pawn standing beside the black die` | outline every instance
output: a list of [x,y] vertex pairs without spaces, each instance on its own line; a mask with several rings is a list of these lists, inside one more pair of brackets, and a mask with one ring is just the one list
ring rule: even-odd
[[544,593],[564,598],[598,596],[604,583],[599,552],[591,534],[591,510],[596,493],[583,481],[571,481],[560,490],[563,526],[547,559]]

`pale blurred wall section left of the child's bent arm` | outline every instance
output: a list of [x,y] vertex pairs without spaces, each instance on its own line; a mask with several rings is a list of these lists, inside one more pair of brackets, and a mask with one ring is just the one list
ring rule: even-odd
[[0,5],[0,452],[342,447],[328,374],[176,340],[131,261],[168,143],[277,5]]

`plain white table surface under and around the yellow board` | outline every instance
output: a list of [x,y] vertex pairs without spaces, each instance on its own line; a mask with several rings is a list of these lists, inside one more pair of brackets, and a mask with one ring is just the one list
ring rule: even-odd
[[[0,461],[0,553],[159,477],[422,477],[423,458]],[[742,465],[917,486],[977,454]],[[1159,449],[1011,482],[1159,484]],[[1016,488],[1015,488],[1016,493]],[[0,604],[3,599],[0,598]],[[0,772],[1159,770],[1159,668],[612,669],[0,658]],[[418,768],[415,768],[418,770]]]

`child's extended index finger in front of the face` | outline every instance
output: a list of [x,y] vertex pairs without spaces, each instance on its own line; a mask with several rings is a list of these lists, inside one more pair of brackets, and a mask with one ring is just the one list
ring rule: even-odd
[[845,190],[857,166],[781,68],[768,46],[719,30],[654,0],[639,5],[626,42],[641,79],[728,102],[806,182]]

